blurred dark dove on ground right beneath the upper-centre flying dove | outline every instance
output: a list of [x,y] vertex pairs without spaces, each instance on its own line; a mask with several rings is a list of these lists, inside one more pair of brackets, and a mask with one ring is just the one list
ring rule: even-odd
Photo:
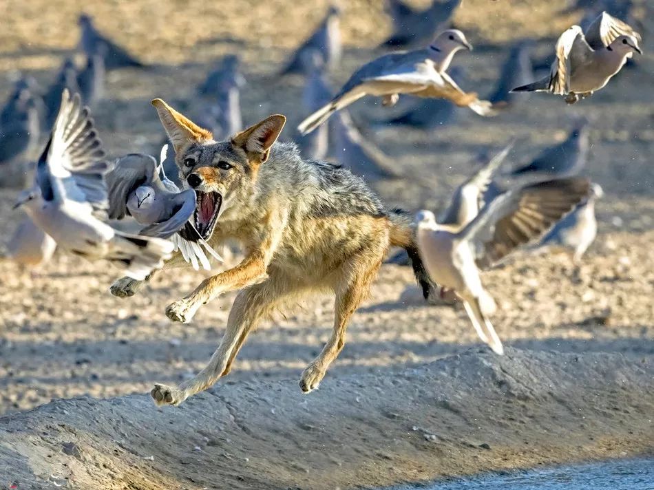
[[[450,70],[450,77],[461,86],[465,82],[465,74],[461,67]],[[408,96],[410,98],[411,96]],[[437,129],[447,126],[456,120],[456,105],[442,98],[416,98],[410,109],[397,116],[378,120],[376,124],[411,126],[418,129]]]

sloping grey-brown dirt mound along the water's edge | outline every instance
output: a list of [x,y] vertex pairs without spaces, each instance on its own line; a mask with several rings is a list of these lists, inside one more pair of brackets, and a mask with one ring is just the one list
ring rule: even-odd
[[654,367],[470,350],[422,368],[222,383],[180,407],[58,400],[0,418],[17,489],[335,489],[651,451]]

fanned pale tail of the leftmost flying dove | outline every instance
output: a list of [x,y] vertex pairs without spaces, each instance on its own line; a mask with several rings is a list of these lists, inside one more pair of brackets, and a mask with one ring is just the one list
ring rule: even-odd
[[107,259],[123,264],[125,275],[137,281],[145,280],[154,269],[162,268],[174,248],[173,243],[165,239],[114,233]]

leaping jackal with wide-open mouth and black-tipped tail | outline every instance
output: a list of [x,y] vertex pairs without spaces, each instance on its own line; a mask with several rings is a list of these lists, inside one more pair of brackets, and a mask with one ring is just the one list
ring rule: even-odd
[[[269,116],[216,142],[163,100],[152,103],[175,149],[181,180],[196,190],[196,229],[212,246],[231,239],[244,252],[240,264],[205,279],[167,308],[171,320],[186,322],[220,293],[240,289],[209,365],[179,387],[155,385],[151,395],[158,405],[178,405],[227,374],[262,317],[309,292],[331,292],[333,334],[299,382],[303,392],[314,390],[343,348],[348,321],[390,246],[405,248],[428,296],[430,282],[408,213],[387,211],[350,171],[304,160],[293,143],[276,142],[284,116]],[[140,284],[119,279],[112,292],[131,296]]]

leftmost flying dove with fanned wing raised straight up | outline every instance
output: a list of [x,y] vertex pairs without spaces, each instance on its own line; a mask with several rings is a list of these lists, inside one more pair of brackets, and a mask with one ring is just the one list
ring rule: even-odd
[[36,164],[34,186],[14,208],[25,209],[34,224],[63,250],[89,260],[107,259],[133,279],[144,280],[173,251],[167,240],[115,230],[107,218],[105,173],[109,164],[87,107],[79,94],[64,89],[50,139]]

